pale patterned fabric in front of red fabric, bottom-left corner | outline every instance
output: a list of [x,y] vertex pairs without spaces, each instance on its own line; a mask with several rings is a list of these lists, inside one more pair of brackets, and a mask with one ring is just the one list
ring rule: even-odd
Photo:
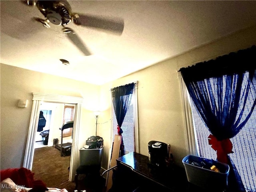
[[28,192],[32,188],[26,188],[24,185],[15,184],[10,178],[2,180],[0,183],[1,192]]

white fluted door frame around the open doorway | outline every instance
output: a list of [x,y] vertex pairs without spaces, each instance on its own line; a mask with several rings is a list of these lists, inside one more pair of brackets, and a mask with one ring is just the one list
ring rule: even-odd
[[[28,130],[28,139],[26,144],[25,156],[23,167],[32,170],[32,162],[34,158],[34,140],[36,130],[38,126],[40,106],[44,102],[55,102],[55,103],[69,103],[76,106],[74,113],[74,127],[73,127],[73,138],[72,138],[72,151],[70,158],[70,175],[69,181],[73,181],[76,168],[79,166],[79,150],[78,150],[78,135],[79,135],[79,122],[81,116],[81,105],[83,98],[73,96],[62,96],[53,94],[33,93],[33,106],[30,118],[30,125]],[[50,135],[49,135],[50,138]]]

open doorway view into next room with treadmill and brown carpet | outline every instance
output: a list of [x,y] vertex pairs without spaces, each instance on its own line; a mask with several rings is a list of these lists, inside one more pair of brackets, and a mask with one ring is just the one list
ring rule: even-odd
[[57,146],[60,146],[60,142],[72,144],[72,128],[63,132],[60,128],[63,124],[74,120],[75,108],[75,104],[52,102],[40,104],[32,172],[36,180],[43,180],[47,186],[58,186],[69,180],[72,146],[70,145],[70,149],[64,152]]

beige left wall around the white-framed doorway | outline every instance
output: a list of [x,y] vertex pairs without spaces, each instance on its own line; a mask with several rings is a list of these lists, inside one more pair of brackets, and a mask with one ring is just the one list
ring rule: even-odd
[[[1,169],[23,165],[32,111],[32,92],[83,97],[79,146],[94,135],[93,111],[99,102],[99,86],[1,64]],[[18,108],[28,99],[27,108]]]

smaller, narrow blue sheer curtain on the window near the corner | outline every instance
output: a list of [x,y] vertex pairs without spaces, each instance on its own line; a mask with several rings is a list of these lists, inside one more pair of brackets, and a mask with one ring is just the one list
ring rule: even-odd
[[[116,121],[117,121],[117,129],[118,134],[122,135],[122,123],[124,121],[124,117],[126,115],[128,106],[130,105],[132,93],[133,93],[134,83],[126,84],[123,86],[119,86],[116,88],[111,89],[111,95],[112,95],[112,102],[114,106],[114,111],[116,114]],[[121,155],[124,150],[124,142],[122,138],[121,142]]]

